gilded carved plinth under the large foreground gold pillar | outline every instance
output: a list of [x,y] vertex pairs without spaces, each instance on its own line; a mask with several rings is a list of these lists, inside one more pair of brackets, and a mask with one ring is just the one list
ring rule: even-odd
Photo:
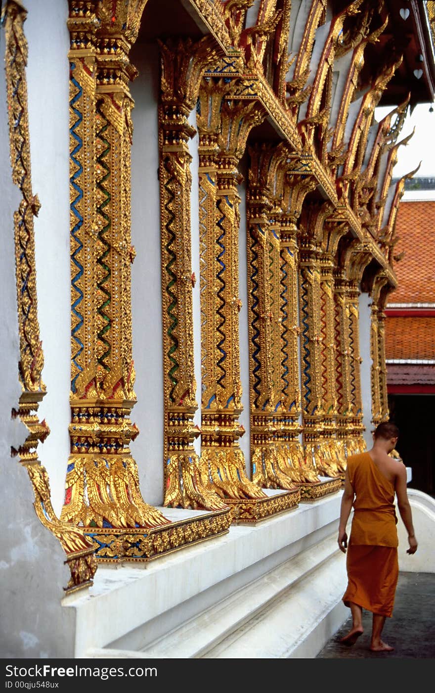
[[231,509],[227,507],[221,511],[203,513],[152,529],[83,529],[85,535],[94,543],[98,563],[143,563],[159,556],[167,556],[186,546],[227,534],[230,525]]

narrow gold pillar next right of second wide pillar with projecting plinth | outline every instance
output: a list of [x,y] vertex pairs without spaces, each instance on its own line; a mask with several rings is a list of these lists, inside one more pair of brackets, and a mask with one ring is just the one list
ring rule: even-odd
[[[290,468],[278,441],[283,404],[280,301],[282,210],[274,205],[274,184],[283,186],[282,147],[249,148],[247,238],[249,267],[249,353],[252,478],[258,486],[294,490],[299,474]],[[281,168],[277,177],[276,168]],[[281,184],[281,185],[280,185]],[[282,445],[281,445],[282,448]]]

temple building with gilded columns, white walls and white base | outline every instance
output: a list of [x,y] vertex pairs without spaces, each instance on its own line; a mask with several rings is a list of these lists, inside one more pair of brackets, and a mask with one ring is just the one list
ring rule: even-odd
[[348,616],[346,458],[390,416],[435,2],[1,16],[2,656],[314,658]]

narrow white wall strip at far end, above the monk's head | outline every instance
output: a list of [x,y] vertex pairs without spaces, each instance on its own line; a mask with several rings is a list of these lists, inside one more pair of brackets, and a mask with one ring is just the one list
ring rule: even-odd
[[371,326],[371,298],[369,294],[359,295],[359,353],[362,358],[361,364],[361,400],[362,400],[362,423],[366,427],[364,440],[366,445],[371,448],[373,439],[371,430],[371,366],[370,356],[370,326]]

